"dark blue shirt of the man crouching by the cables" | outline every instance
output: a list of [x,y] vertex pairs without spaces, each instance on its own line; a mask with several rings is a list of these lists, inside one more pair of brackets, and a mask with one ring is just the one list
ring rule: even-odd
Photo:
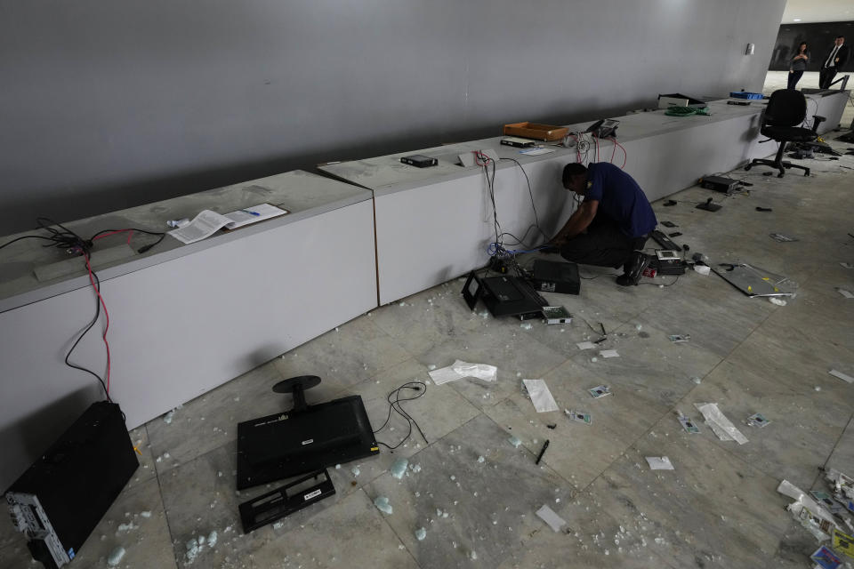
[[656,228],[656,214],[632,176],[614,164],[599,162],[587,165],[587,181],[584,201],[597,200],[599,212],[615,220],[625,235],[640,237]]

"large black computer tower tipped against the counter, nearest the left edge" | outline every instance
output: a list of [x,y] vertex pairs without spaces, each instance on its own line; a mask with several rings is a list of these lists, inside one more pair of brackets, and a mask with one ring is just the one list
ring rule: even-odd
[[71,561],[139,466],[118,405],[90,405],[5,492],[33,558]]

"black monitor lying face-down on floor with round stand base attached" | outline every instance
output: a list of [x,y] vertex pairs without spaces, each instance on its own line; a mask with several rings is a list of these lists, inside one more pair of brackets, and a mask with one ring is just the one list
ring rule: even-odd
[[279,381],[273,391],[292,393],[294,408],[238,423],[238,490],[378,454],[362,398],[307,405],[305,389],[316,375]]

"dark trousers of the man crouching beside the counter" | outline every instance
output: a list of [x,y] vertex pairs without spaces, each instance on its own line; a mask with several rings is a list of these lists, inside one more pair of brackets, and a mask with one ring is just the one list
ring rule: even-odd
[[630,237],[615,221],[597,215],[586,233],[579,234],[560,247],[560,256],[580,265],[624,267],[634,251],[642,251],[649,236]]

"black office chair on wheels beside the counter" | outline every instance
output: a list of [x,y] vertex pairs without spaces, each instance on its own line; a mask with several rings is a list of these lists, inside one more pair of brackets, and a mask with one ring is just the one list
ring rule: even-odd
[[[777,140],[780,143],[780,148],[777,150],[777,156],[773,160],[764,158],[753,158],[750,164],[745,166],[745,170],[750,170],[753,164],[761,164],[763,166],[771,166],[777,168],[780,173],[777,178],[782,178],[786,173],[786,168],[800,168],[803,170],[804,176],[810,175],[810,168],[791,162],[783,162],[783,153],[786,151],[786,143],[788,142],[811,142],[818,138],[818,124],[825,120],[823,116],[816,116],[815,122],[812,124],[812,129],[802,128],[798,126],[803,123],[803,119],[807,116],[807,99],[800,91],[794,89],[780,89],[771,93],[771,98],[768,101],[768,107],[765,109],[765,115],[762,117],[762,125],[760,131],[767,136],[769,140]],[[768,140],[761,140],[768,142]]]

